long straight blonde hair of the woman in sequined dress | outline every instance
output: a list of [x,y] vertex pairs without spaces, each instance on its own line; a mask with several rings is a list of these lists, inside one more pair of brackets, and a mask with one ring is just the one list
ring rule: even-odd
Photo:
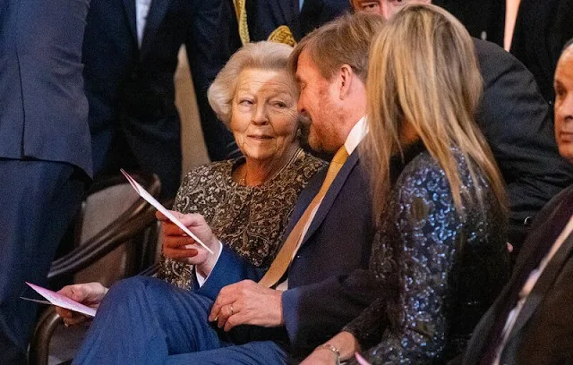
[[370,132],[364,143],[372,163],[374,216],[381,218],[390,191],[390,157],[404,152],[405,126],[412,129],[446,174],[462,214],[461,177],[451,148],[466,158],[475,194],[479,169],[505,207],[504,183],[492,151],[475,124],[483,80],[472,39],[438,6],[407,5],[382,28],[370,49],[366,89]]

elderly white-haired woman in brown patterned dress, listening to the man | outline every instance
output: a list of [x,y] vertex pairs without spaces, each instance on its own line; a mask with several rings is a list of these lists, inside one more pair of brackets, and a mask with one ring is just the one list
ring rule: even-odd
[[[209,89],[210,105],[235,135],[244,157],[193,169],[175,198],[175,214],[200,213],[222,242],[255,267],[268,267],[300,191],[325,163],[300,148],[298,91],[287,68],[292,47],[259,42],[235,53]],[[164,255],[158,277],[182,289],[194,281],[194,249],[174,242],[183,232],[165,219]],[[203,273],[197,272],[204,280]],[[98,306],[107,288],[98,283],[65,286],[76,301]],[[66,324],[81,315],[57,309]]]

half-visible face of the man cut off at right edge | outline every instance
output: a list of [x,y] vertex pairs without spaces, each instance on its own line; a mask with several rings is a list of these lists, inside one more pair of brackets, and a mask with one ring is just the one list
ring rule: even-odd
[[573,164],[573,47],[561,55],[555,71],[555,140]]

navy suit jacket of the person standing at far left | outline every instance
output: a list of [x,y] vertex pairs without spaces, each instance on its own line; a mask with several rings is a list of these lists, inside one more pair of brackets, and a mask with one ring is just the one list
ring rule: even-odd
[[0,3],[0,157],[65,162],[91,175],[77,31],[87,4],[60,13],[57,3]]

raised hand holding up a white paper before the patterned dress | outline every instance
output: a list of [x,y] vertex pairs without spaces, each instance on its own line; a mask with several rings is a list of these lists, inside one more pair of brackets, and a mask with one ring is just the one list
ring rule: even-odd
[[205,222],[205,218],[200,214],[182,214],[173,210],[170,212],[197,238],[205,243],[214,254],[211,255],[208,250],[205,250],[201,244],[185,234],[175,223],[171,222],[160,212],[157,212],[155,216],[161,222],[163,234],[163,254],[167,258],[195,265],[201,275],[208,276],[218,258],[220,243],[217,237],[215,237],[210,226]]

